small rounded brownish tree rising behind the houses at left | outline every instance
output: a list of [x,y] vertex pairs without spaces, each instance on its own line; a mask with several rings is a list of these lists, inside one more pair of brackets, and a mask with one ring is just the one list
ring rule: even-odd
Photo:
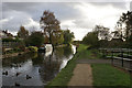
[[18,36],[25,40],[29,36],[29,31],[25,30],[24,26],[20,26],[20,30],[18,32]]

